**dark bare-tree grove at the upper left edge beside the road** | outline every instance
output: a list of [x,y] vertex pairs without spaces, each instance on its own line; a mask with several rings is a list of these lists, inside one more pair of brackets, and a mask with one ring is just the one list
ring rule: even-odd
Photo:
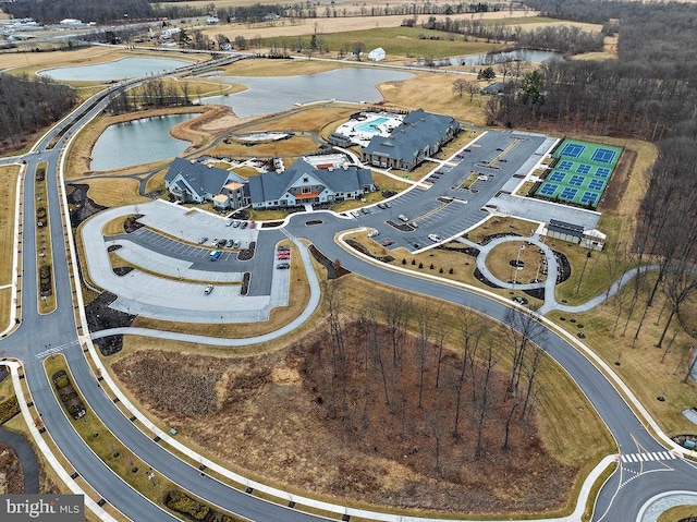
[[0,142],[19,148],[29,134],[60,120],[76,100],[72,87],[49,78],[0,75]]

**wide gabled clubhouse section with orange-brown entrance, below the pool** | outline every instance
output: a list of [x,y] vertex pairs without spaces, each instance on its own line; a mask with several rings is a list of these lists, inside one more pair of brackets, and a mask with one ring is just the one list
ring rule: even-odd
[[343,163],[317,163],[296,160],[283,172],[267,172],[249,178],[252,207],[283,208],[314,203],[334,203],[363,197],[375,191],[369,169]]

